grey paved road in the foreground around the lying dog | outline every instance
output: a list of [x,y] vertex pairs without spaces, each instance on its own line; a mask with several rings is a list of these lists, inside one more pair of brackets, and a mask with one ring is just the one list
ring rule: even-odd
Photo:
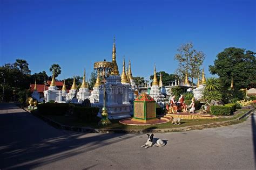
[[0,104],[0,169],[255,169],[255,115],[221,128],[145,134],[76,133]]

